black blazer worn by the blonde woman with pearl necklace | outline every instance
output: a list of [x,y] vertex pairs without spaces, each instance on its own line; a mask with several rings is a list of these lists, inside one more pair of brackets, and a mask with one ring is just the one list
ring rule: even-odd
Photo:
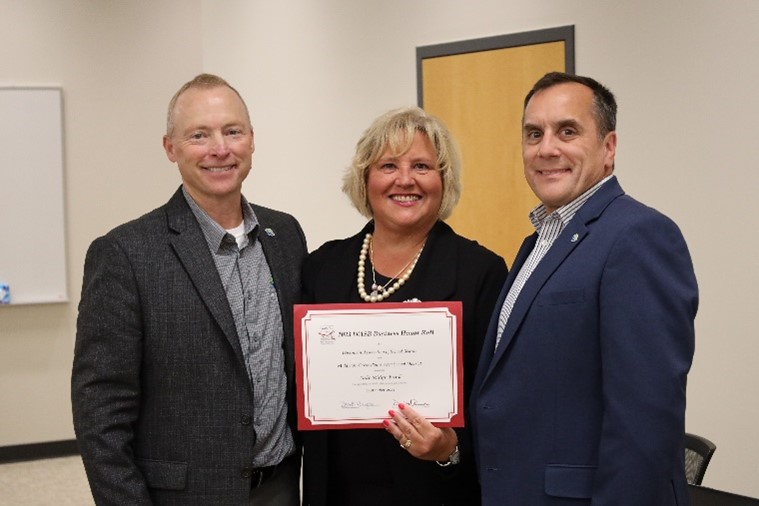
[[[358,255],[369,223],[357,235],[330,241],[311,253],[303,264],[303,301],[306,303],[363,302],[358,296],[356,271]],[[408,282],[387,299],[401,302],[459,300],[463,302],[464,395],[469,397],[477,359],[498,292],[506,279],[506,263],[495,253],[457,235],[438,222],[427,239],[419,262]],[[328,439],[331,431],[306,431],[304,442],[304,504],[327,504],[329,482]],[[362,433],[376,432],[362,429]],[[398,450],[391,436],[380,439],[381,459],[389,462],[389,472],[397,483],[394,504],[479,504],[474,456],[468,432],[458,431],[461,464],[440,468],[434,462],[415,459]],[[333,456],[334,458],[334,456]],[[367,453],[370,459],[371,453]],[[350,486],[344,484],[343,486]],[[441,499],[442,498],[442,499]],[[368,499],[367,499],[368,500]]]

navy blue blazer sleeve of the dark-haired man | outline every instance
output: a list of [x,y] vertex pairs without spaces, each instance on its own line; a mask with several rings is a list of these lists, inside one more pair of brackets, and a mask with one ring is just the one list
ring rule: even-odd
[[618,234],[600,300],[604,416],[593,504],[669,504],[698,306],[690,254],[672,221],[648,215]]

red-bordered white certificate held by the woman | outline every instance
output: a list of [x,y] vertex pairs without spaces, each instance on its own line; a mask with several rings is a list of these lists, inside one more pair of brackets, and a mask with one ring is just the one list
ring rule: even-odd
[[405,403],[464,425],[461,302],[297,304],[298,429],[381,428]]

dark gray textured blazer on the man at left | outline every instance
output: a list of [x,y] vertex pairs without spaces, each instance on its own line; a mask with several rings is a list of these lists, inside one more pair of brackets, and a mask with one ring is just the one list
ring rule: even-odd
[[[282,311],[294,415],[292,305],[305,237],[292,216],[252,207],[260,229],[273,231],[258,237]],[[247,504],[250,477],[241,471],[253,459],[253,392],[224,288],[181,189],[90,246],[72,406],[98,505]]]

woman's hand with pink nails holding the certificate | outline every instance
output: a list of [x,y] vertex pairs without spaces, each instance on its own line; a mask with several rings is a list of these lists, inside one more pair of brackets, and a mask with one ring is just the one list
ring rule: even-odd
[[390,410],[391,418],[382,423],[401,449],[418,459],[446,462],[458,444],[456,432],[435,427],[405,404],[398,404],[398,408],[399,411]]

